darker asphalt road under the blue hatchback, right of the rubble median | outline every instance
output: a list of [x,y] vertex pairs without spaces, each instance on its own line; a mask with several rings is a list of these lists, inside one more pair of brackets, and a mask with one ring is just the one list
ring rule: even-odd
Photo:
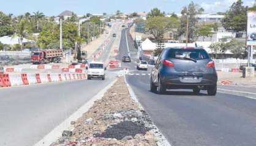
[[[132,59],[136,61],[136,50],[129,35],[127,41]],[[128,54],[124,30],[118,57]],[[134,61],[122,63],[123,68],[129,69],[127,83],[172,146],[256,145],[256,100],[222,93],[215,97],[207,96],[206,92],[194,95],[190,90],[158,95],[149,91],[150,69],[137,71]],[[246,91],[255,89],[246,88]]]

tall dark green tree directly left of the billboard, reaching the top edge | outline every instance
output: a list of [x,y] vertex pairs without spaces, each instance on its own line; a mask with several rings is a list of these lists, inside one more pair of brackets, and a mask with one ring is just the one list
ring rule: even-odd
[[244,31],[246,29],[246,10],[247,7],[243,6],[242,0],[234,2],[230,10],[225,13],[222,26],[226,30]]

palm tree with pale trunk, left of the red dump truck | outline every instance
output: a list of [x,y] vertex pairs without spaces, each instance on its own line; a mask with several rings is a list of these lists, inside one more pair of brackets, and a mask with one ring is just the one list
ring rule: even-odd
[[23,50],[23,39],[28,36],[28,27],[27,27],[28,20],[26,19],[19,19],[17,24],[15,25],[15,34],[13,37],[18,36],[20,39],[20,48]]

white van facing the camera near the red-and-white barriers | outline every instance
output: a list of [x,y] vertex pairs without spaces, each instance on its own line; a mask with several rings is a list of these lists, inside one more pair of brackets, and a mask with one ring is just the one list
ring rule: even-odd
[[88,70],[88,80],[91,80],[91,78],[102,78],[102,80],[105,80],[107,68],[105,68],[104,63],[91,62],[86,69]]

